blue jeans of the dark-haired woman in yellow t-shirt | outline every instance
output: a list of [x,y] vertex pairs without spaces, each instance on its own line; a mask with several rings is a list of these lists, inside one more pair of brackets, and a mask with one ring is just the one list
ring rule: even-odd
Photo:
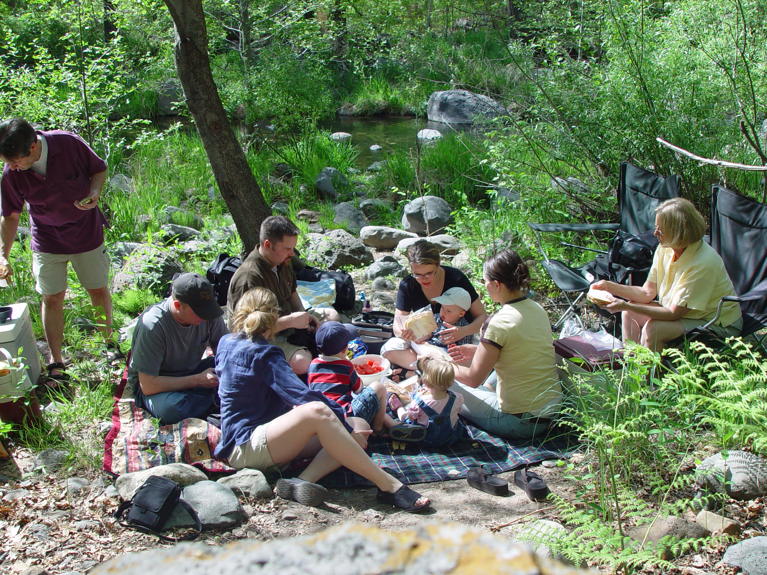
[[[495,371],[488,376],[485,383],[495,388],[498,383]],[[522,417],[517,417],[502,412],[498,395],[486,386],[475,389],[456,381],[450,391],[463,395],[461,416],[492,435],[507,439],[528,439],[548,429],[547,423],[533,423],[535,419],[525,417],[524,413]]]

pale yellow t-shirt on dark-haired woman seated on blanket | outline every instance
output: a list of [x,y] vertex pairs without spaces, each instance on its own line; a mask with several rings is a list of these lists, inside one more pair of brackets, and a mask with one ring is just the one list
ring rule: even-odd
[[561,398],[551,325],[535,301],[505,304],[485,321],[479,340],[500,350],[495,392],[502,412],[535,412]]

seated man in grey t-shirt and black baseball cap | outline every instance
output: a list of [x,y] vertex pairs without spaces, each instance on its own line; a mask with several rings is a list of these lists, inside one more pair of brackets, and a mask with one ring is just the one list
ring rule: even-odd
[[212,285],[200,274],[173,281],[170,297],[147,307],[133,329],[128,384],[137,406],[163,426],[219,412],[213,356],[229,333]]

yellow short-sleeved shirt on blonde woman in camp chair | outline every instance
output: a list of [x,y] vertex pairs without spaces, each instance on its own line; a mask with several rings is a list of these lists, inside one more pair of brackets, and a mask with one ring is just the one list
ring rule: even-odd
[[[690,320],[713,320],[719,300],[736,295],[722,258],[703,240],[688,245],[676,261],[673,249],[659,245],[647,281],[657,285],[660,305],[685,305],[688,310],[683,317]],[[738,303],[726,301],[716,323],[727,327],[739,317]]]

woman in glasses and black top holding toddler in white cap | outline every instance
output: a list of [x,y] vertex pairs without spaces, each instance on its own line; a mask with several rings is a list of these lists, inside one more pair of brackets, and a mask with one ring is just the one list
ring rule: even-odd
[[[410,275],[400,281],[397,290],[397,303],[395,316],[407,316],[423,307],[431,305],[434,314],[439,314],[442,307],[436,297],[440,297],[450,288],[463,288],[469,292],[471,306],[464,318],[466,325],[461,327],[449,325],[447,329],[439,332],[439,340],[445,345],[465,343],[472,339],[474,334],[479,333],[482,322],[487,319],[487,312],[482,301],[479,299],[474,286],[463,271],[442,265],[439,255],[439,247],[428,240],[416,241],[407,250],[407,261],[410,263]],[[461,322],[463,323],[463,322]],[[406,370],[413,370],[410,351],[410,343],[423,343],[430,339],[431,335],[416,340],[412,330],[402,330],[394,323],[394,335],[381,349],[381,355],[391,363],[402,366]],[[403,374],[404,375],[404,374]]]

